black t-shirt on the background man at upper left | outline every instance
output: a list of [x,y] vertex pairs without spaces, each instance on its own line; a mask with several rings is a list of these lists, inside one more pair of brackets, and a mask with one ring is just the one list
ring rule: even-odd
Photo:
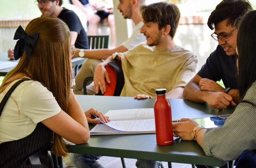
[[76,38],[76,43],[74,44],[74,46],[76,48],[88,49],[89,46],[87,34],[84,30],[84,27],[82,26],[80,19],[74,13],[74,11],[63,8],[58,18],[60,18],[67,24],[70,31],[78,32],[78,36]]

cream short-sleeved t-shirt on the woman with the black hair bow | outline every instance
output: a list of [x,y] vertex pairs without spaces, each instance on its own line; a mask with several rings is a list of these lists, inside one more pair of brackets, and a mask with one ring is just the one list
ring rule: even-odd
[[[5,93],[20,79],[13,81],[0,93]],[[14,141],[31,134],[37,123],[60,113],[53,94],[40,82],[28,80],[17,86],[7,100],[0,116],[0,143]]]

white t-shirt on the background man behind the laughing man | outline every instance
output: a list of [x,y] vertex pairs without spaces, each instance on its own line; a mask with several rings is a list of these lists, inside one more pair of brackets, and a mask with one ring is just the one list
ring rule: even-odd
[[146,41],[146,38],[143,35],[143,33],[140,33],[140,28],[142,27],[142,25],[142,21],[138,23],[134,27],[131,37],[128,38],[125,42],[123,42],[122,45],[125,46],[125,48],[127,48],[128,50],[131,50],[134,46]]

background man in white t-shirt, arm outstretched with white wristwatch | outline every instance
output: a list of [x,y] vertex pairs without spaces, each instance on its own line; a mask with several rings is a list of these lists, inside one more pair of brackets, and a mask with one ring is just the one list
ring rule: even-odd
[[[122,13],[125,19],[131,19],[135,25],[131,37],[128,38],[122,45],[113,49],[95,49],[95,50],[80,50],[77,49],[74,57],[89,58],[84,62],[80,71],[76,75],[76,94],[84,94],[83,84],[84,80],[88,77],[93,77],[95,67],[102,63],[103,60],[115,52],[126,52],[132,49],[134,46],[145,42],[146,39],[143,34],[140,33],[140,28],[143,25],[142,16],[140,14],[140,6],[145,4],[145,0],[120,0],[117,9]],[[86,87],[87,95],[94,95],[93,83]]]

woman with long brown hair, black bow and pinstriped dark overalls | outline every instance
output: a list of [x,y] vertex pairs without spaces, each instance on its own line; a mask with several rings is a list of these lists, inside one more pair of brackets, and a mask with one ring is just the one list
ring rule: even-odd
[[[0,167],[19,167],[36,155],[45,167],[51,167],[47,149],[66,155],[62,139],[76,144],[90,137],[91,116],[109,119],[89,109],[83,112],[71,85],[71,45],[67,25],[58,18],[43,16],[32,20],[25,31],[19,27],[14,50],[20,61],[0,86]],[[54,133],[53,133],[54,132]],[[31,166],[31,165],[29,165]]]

